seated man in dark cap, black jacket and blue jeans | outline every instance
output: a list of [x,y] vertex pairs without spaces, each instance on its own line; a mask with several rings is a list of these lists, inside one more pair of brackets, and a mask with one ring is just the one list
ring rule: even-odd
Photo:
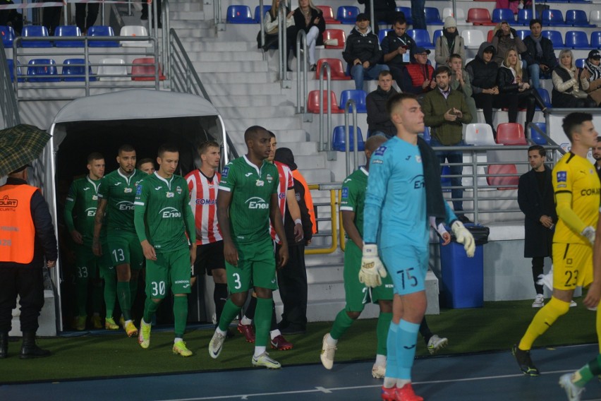
[[378,64],[382,58],[382,50],[377,35],[370,28],[370,18],[367,14],[360,13],[357,16],[355,28],[346,39],[342,57],[351,67],[355,89],[363,90],[363,76],[375,79],[380,71],[389,69],[385,64]]

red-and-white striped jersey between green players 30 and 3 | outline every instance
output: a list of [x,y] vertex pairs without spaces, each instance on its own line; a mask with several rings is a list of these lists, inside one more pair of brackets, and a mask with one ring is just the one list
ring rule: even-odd
[[217,191],[221,174],[208,179],[199,169],[186,175],[190,189],[190,208],[196,226],[196,244],[204,245],[221,241],[221,229],[217,222]]

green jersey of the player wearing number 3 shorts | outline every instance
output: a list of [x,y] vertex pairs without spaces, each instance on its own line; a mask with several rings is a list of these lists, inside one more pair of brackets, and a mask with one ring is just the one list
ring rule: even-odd
[[263,161],[261,168],[246,156],[229,162],[221,172],[219,190],[231,192],[229,205],[232,241],[237,244],[269,237],[269,203],[277,194],[277,167]]

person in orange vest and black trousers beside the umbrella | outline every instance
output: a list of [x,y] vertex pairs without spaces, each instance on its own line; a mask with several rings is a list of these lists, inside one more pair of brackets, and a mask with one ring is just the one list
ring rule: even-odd
[[47,357],[38,347],[37,318],[44,306],[42,267],[56,265],[58,249],[50,211],[40,188],[30,186],[25,165],[8,174],[0,186],[0,359],[8,357],[12,310],[20,297],[20,358]]

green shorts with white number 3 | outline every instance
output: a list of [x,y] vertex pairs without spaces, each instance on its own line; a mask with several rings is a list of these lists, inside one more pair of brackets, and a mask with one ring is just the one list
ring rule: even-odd
[[238,266],[226,261],[227,287],[233,294],[251,287],[277,289],[274,243],[271,237],[252,244],[237,244]]

